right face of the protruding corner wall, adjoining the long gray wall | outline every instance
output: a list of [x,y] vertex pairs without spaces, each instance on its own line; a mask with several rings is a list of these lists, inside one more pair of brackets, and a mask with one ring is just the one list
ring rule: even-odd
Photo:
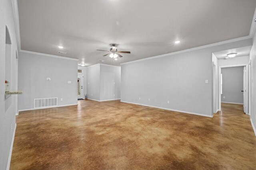
[[100,64],[100,100],[121,98],[121,67]]

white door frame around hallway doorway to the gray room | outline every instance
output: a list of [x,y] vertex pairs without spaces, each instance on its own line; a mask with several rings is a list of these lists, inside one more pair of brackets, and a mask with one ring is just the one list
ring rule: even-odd
[[[218,96],[219,96],[219,110],[221,111],[221,94],[220,94],[220,74],[221,74],[221,68],[229,68],[229,67],[239,67],[239,66],[245,66],[246,67],[246,70],[248,70],[248,65],[249,64],[234,64],[234,65],[226,65],[226,66],[219,66],[219,93],[218,93]],[[248,113],[248,82],[251,81],[250,80],[250,77],[248,76],[248,74],[246,74],[247,76],[247,79],[246,79],[246,114],[249,115]]]

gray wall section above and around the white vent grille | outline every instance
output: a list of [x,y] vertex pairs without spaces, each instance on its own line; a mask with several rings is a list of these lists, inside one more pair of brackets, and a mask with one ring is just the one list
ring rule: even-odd
[[18,109],[34,108],[36,98],[56,97],[58,106],[77,104],[77,68],[74,60],[20,52],[18,86],[23,95],[18,96]]

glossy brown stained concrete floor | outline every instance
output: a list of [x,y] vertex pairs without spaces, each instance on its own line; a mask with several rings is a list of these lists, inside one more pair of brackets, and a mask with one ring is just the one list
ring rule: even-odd
[[213,118],[120,101],[23,111],[10,169],[256,169],[242,105]]

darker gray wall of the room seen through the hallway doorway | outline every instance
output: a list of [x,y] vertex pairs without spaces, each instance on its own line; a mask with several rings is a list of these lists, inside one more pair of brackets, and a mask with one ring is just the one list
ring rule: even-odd
[[[243,66],[222,68],[221,102],[243,104]],[[225,98],[224,98],[225,96]]]

